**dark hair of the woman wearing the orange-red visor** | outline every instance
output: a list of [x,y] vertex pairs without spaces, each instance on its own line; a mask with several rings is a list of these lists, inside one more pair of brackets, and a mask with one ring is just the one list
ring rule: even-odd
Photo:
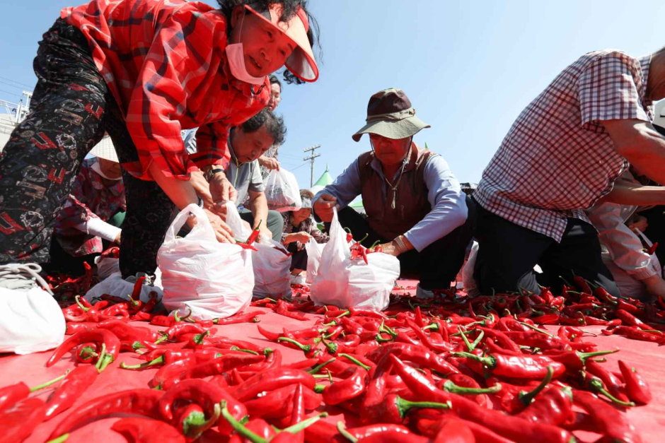
[[[323,63],[323,51],[321,50],[321,41],[320,41],[320,28],[318,26],[318,21],[314,16],[309,13],[307,10],[307,0],[217,0],[217,4],[219,4],[219,9],[226,18],[229,20],[229,34],[231,33],[231,13],[233,13],[233,9],[236,8],[236,6],[241,6],[241,5],[249,5],[251,8],[253,8],[255,11],[262,13],[264,11],[267,11],[267,9],[270,7],[272,4],[279,3],[283,6],[282,10],[282,16],[279,17],[279,20],[281,21],[289,21],[291,20],[291,17],[296,15],[296,12],[298,11],[298,6],[303,8],[303,11],[307,14],[307,20],[309,21],[309,30],[307,31],[307,39],[309,40],[309,44],[312,46],[312,50],[315,50],[315,48],[318,48],[316,53],[318,53],[318,60],[320,63]],[[284,69],[284,81],[287,83],[296,83],[296,85],[300,85],[302,83],[305,83],[302,81],[300,78],[296,77],[294,73],[291,73],[288,69]],[[277,77],[275,77],[277,78]],[[272,84],[273,82],[270,81]],[[282,88],[282,83],[279,83],[279,88]]]

